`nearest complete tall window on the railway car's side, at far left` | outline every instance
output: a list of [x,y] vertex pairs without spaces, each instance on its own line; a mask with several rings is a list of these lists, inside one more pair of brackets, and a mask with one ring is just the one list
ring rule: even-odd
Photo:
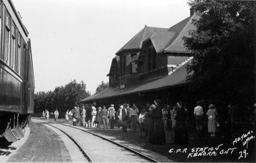
[[6,13],[6,28],[5,28],[5,62],[10,66],[10,21],[11,18],[8,13]]

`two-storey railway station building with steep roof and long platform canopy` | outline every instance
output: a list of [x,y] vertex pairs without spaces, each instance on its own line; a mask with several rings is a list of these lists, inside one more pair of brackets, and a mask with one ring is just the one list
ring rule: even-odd
[[189,17],[170,28],[145,25],[116,52],[107,74],[110,86],[80,102],[96,107],[113,103],[116,110],[123,103],[135,103],[141,110],[146,102],[154,104],[159,98],[163,104],[183,100],[194,106],[195,100],[186,94],[186,66],[193,57],[182,37],[196,29],[192,22],[199,18],[198,12],[191,11]]

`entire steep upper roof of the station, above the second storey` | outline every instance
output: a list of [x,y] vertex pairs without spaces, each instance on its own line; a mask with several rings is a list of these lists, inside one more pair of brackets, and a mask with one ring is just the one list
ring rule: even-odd
[[140,50],[143,42],[151,40],[157,53],[161,52],[178,52],[189,53],[184,47],[184,41],[182,37],[189,36],[190,30],[196,30],[193,19],[199,19],[200,14],[194,13],[192,16],[180,21],[169,29],[148,27],[145,25],[137,35],[135,35],[129,42],[127,42],[120,50],[116,52],[119,55],[120,52],[125,50]]

